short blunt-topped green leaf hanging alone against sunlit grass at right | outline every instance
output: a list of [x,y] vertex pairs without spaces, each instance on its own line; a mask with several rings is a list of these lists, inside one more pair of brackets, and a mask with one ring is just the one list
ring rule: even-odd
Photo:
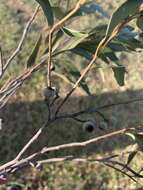
[[123,66],[113,67],[112,70],[114,72],[114,77],[117,83],[120,86],[124,86],[124,79],[125,79],[125,73],[126,73],[125,67]]

